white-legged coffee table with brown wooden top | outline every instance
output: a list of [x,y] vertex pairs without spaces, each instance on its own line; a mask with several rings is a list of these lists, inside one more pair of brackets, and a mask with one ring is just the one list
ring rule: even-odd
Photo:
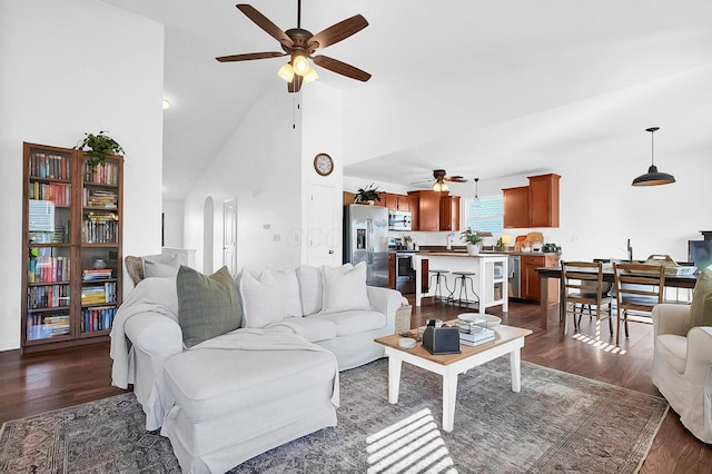
[[[448,326],[456,324],[447,322]],[[443,429],[452,432],[455,424],[455,399],[457,396],[457,376],[486,362],[510,355],[512,371],[512,392],[522,388],[521,349],[524,337],[532,334],[530,329],[498,325],[494,328],[494,340],[478,346],[459,345],[461,354],[433,355],[421,343],[414,348],[398,346],[400,335],[378,337],[376,343],[386,346],[388,357],[388,402],[398,403],[400,389],[400,368],[404,362],[425,368],[443,377]]]

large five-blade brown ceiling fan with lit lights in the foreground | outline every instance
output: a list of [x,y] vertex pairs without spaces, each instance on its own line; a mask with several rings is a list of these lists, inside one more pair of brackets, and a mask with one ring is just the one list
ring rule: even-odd
[[301,28],[301,0],[297,1],[297,28],[283,31],[278,26],[273,23],[267,17],[257,11],[254,7],[239,3],[236,6],[247,18],[253,20],[255,24],[265,30],[269,36],[279,41],[279,46],[284,50],[268,52],[250,52],[245,55],[220,56],[217,59],[220,62],[233,61],[250,61],[254,59],[279,58],[289,56],[290,60],[279,69],[277,75],[287,81],[287,90],[289,92],[298,92],[301,83],[309,83],[318,79],[316,70],[309,65],[307,58],[310,58],[315,65],[328,69],[342,76],[352,79],[367,81],[370,75],[366,71],[342,62],[328,56],[312,56],[314,52],[335,45],[352,34],[357,33],[368,26],[368,21],[360,14],[356,14],[336,24],[332,24],[325,30],[316,34]]

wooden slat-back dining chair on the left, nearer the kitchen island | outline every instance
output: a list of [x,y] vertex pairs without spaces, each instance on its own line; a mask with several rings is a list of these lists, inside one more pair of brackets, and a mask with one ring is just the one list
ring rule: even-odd
[[601,337],[603,319],[609,319],[609,333],[613,337],[613,298],[609,295],[611,287],[603,282],[603,263],[562,260],[561,269],[564,335],[568,332],[568,314],[573,315],[574,330],[580,330],[584,307],[589,308],[590,316],[594,316],[592,308],[595,307],[595,338]]

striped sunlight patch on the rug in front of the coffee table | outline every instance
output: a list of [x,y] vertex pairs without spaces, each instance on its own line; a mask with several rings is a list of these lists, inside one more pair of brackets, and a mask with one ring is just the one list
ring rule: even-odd
[[366,443],[368,474],[457,473],[427,408],[368,436]]

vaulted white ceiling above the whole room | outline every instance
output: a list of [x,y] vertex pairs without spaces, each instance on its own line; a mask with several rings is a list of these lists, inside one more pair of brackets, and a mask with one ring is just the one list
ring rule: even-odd
[[[105,1],[166,27],[165,198],[180,199],[280,81],[280,59],[215,57],[278,45],[233,1]],[[250,1],[283,29],[296,27],[296,3]],[[415,187],[445,168],[485,181],[576,157],[640,160],[643,172],[652,126],[666,171],[666,151],[702,159],[712,147],[710,1],[304,0],[301,27],[316,33],[356,13],[368,28],[324,53],[373,78],[319,70],[318,80],[344,91],[346,176]]]

